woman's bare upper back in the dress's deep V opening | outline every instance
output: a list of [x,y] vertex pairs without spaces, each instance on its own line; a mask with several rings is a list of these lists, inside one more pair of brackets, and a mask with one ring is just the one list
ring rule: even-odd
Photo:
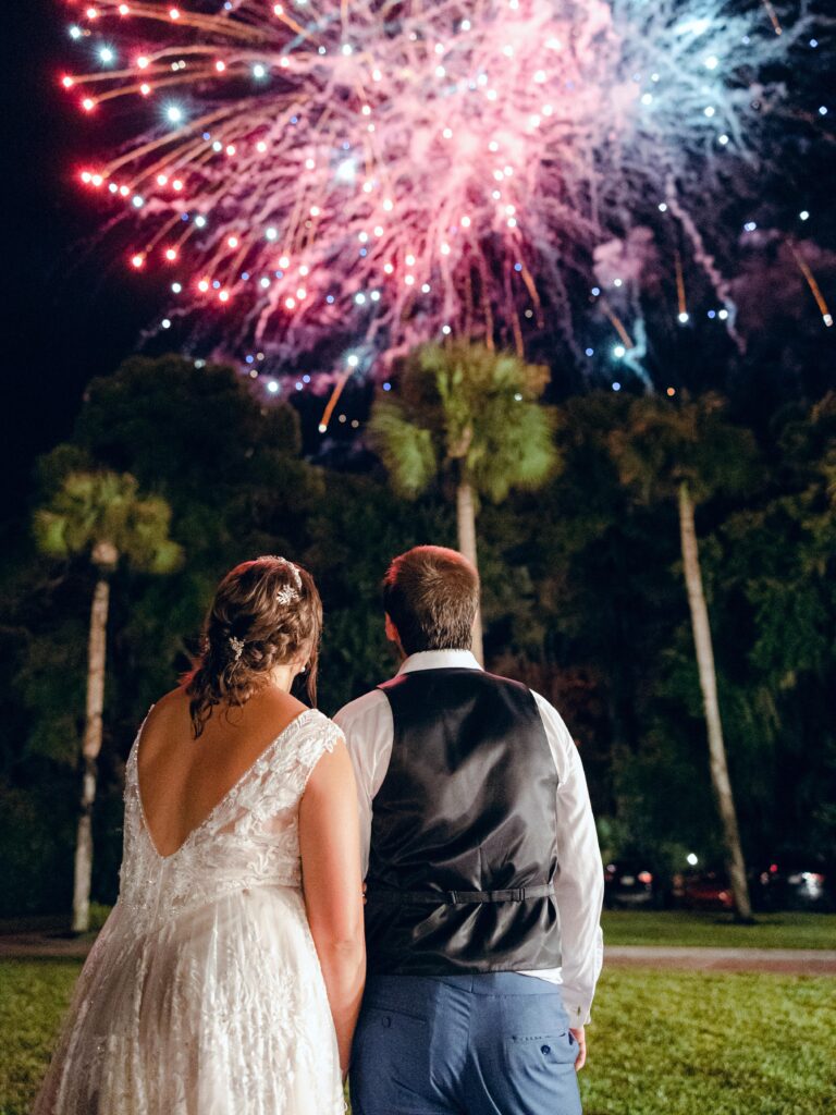
[[157,853],[177,852],[259,756],[305,710],[269,686],[239,708],[216,706],[194,738],[189,698],[175,689],[148,715],[137,749],[139,796]]

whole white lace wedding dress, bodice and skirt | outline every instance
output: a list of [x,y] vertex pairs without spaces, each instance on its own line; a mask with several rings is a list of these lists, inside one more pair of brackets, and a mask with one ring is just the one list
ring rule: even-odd
[[339,729],[273,740],[172,855],[126,768],[119,900],[33,1115],[337,1115],[337,1038],[301,890],[299,803]]

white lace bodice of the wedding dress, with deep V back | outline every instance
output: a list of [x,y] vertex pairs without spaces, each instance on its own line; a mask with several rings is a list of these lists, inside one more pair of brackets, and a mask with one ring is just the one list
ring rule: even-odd
[[159,855],[143,813],[137,777],[142,728],[125,770],[125,851],[119,901],[137,927],[251,886],[301,886],[299,802],[308,778],[340,738],[317,709],[270,744],[171,855]]

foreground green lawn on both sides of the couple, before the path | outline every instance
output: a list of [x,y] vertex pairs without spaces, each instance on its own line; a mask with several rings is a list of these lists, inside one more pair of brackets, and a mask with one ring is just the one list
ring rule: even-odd
[[[79,968],[0,963],[0,1115],[28,1112]],[[605,971],[585,1115],[832,1115],[835,993],[826,977]]]

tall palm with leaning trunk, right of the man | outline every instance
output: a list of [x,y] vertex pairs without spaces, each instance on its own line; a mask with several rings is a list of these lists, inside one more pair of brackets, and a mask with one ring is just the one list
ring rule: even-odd
[[726,866],[737,917],[751,920],[737,811],[726,759],[717,697],[717,670],[694,523],[698,503],[741,489],[751,475],[755,443],[749,430],[731,426],[723,403],[713,395],[679,406],[654,396],[636,399],[629,427],[615,432],[611,447],[622,479],[645,501],[675,498],[679,510],[682,568],[688,592],[702,705],[708,733],[711,784],[726,850]]

